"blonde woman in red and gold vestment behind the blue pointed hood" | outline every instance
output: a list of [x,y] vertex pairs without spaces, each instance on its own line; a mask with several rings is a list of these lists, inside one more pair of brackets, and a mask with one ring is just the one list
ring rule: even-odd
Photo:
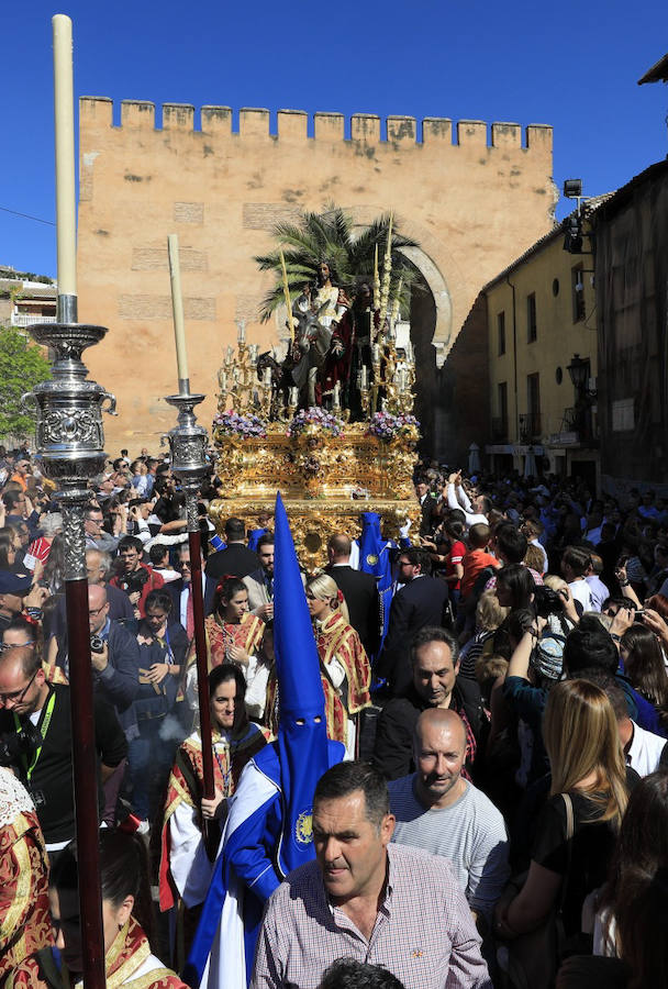
[[371,703],[371,666],[357,632],[348,623],[345,598],[332,577],[320,574],[308,581],[307,603],[320,656],[327,735],[343,742],[355,758],[357,715]]

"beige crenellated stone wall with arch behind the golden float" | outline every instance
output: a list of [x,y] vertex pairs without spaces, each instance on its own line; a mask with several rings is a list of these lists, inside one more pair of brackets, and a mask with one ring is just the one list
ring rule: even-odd
[[422,247],[412,259],[434,293],[439,364],[482,285],[553,223],[548,126],[526,127],[522,146],[517,124],[427,119],[419,135],[413,118],[391,116],[381,140],[377,116],[353,116],[346,137],[343,115],[316,113],[309,137],[302,112],[279,111],[270,134],[266,110],[241,110],[234,133],[229,108],[203,107],[201,130],[192,107],[162,109],[156,129],[153,103],[123,101],[113,126],[110,100],[80,102],[79,318],[109,329],[87,358],[119,399],[110,453],[155,447],[174,424],[162,401],[176,386],[169,233],[179,235],[190,379],[208,395],[209,425],[234,321],[247,320],[250,342],[278,340],[277,321],[258,322],[269,279],[253,262],[278,220],[332,202],[360,225],[393,210]]

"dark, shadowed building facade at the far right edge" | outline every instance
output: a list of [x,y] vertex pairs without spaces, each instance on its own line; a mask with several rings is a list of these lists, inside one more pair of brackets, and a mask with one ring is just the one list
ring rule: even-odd
[[598,408],[605,490],[668,496],[668,162],[592,216],[599,320]]

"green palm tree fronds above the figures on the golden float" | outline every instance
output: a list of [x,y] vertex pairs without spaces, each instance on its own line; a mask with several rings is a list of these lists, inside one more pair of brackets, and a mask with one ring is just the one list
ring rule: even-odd
[[[330,207],[322,213],[303,213],[298,224],[277,223],[272,234],[279,246],[270,254],[255,257],[261,271],[275,271],[276,285],[265,296],[260,304],[263,322],[283,301],[283,282],[280,252],[282,249],[288,273],[290,298],[294,299],[304,282],[314,281],[320,262],[326,260],[333,273],[332,280],[347,292],[359,281],[372,285],[374,255],[378,247],[378,264],[382,275],[382,263],[388,241],[390,214],[379,216],[360,234],[353,227],[353,219],[339,207]],[[416,247],[415,241],[403,236],[392,224],[392,275],[390,300],[400,289],[400,301],[410,303],[411,288],[417,273],[399,251],[400,247]]]

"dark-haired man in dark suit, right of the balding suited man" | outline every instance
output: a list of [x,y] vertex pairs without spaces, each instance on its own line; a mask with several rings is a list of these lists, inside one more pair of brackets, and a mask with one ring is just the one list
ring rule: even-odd
[[439,627],[447,601],[445,581],[427,576],[430,562],[424,551],[402,549],[398,564],[398,580],[403,587],[392,598],[388,634],[377,668],[378,676],[390,681],[392,697],[410,686],[410,648],[415,633],[427,625]]

